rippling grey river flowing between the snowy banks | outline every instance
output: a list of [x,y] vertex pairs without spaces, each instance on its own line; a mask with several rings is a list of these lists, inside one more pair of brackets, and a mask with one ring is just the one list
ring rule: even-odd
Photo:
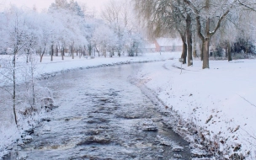
[[[162,123],[154,104],[129,83],[141,65],[51,77],[56,104],[33,141],[5,159],[189,159],[189,143]],[[173,147],[183,147],[174,152]]]

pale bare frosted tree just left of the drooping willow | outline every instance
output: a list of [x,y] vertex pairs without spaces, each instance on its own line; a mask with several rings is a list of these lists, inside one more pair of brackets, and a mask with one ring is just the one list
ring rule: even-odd
[[[102,10],[101,17],[104,22],[109,25],[109,28],[117,35],[116,51],[118,56],[122,51],[131,49],[132,44],[136,44],[136,35],[139,35],[138,26],[135,26],[135,15],[131,8],[130,0],[111,0],[106,3]],[[132,33],[132,34],[131,34]],[[129,50],[128,50],[129,48]],[[130,53],[128,55],[131,55]]]

